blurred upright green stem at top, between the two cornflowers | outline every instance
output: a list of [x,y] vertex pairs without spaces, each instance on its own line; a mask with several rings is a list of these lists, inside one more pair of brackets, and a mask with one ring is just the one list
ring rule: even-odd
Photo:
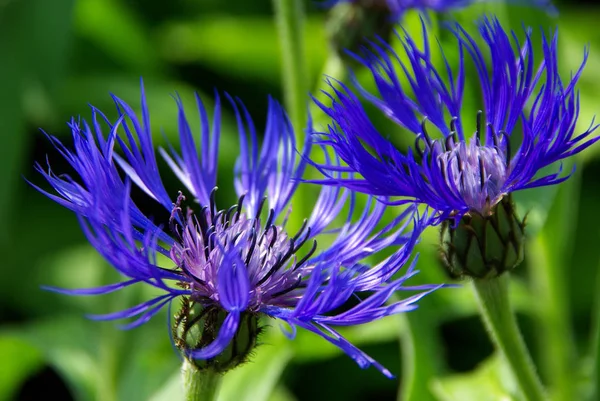
[[285,104],[298,142],[304,140],[307,121],[308,80],[304,51],[302,0],[273,0],[283,64]]

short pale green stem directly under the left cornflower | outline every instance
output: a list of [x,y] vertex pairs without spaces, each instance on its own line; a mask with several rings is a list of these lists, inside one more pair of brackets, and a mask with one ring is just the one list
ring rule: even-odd
[[217,389],[221,374],[210,369],[199,370],[186,359],[181,367],[185,401],[213,401],[217,399]]

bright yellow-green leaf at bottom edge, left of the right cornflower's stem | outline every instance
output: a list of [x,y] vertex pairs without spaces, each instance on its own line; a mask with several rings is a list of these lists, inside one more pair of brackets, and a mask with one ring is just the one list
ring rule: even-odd
[[516,400],[517,388],[498,356],[492,356],[470,373],[435,380],[432,391],[440,401]]

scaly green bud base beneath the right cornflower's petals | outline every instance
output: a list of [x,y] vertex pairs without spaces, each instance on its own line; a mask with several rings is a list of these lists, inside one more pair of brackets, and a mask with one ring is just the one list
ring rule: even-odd
[[493,278],[523,261],[525,219],[519,220],[511,196],[505,196],[487,215],[465,214],[456,227],[444,221],[440,254],[453,278]]

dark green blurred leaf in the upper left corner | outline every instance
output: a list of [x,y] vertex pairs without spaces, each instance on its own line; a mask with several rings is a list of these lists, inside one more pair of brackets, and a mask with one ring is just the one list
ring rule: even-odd
[[[13,1],[0,6],[0,243],[7,243],[19,171],[29,142],[27,102],[55,87],[65,64],[73,0]],[[35,27],[32,29],[31,27]],[[48,35],[52,32],[52,35]],[[37,89],[34,89],[37,88]],[[33,96],[32,96],[33,94]],[[10,245],[9,245],[10,246]]]

